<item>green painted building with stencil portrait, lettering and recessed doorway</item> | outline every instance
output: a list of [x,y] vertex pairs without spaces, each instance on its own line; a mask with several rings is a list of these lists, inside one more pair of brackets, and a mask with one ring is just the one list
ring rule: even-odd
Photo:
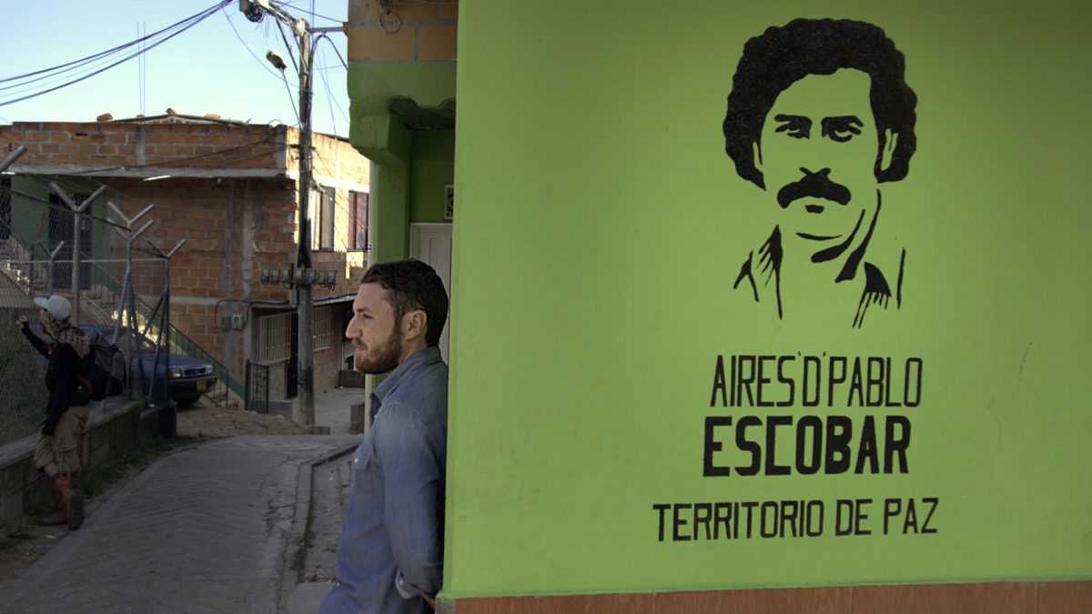
[[378,260],[459,194],[446,606],[1092,609],[1088,7],[349,5]]

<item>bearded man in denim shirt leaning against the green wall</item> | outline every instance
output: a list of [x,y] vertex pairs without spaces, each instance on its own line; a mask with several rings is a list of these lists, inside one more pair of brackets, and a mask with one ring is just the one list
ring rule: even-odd
[[448,366],[440,333],[448,294],[416,260],[368,269],[345,336],[371,394],[371,428],[353,458],[337,546],[337,581],[321,614],[418,614],[435,609],[443,567]]

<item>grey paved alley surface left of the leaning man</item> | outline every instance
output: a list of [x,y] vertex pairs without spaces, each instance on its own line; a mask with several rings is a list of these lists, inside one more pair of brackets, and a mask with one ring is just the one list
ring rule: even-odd
[[311,465],[357,437],[234,437],[156,461],[0,595],[7,613],[274,613],[296,589]]

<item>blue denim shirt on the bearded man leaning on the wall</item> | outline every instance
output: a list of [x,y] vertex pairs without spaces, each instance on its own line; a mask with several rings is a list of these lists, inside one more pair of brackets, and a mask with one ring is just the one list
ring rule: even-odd
[[372,423],[353,457],[337,581],[321,614],[418,614],[443,579],[448,366],[413,354],[371,395]]

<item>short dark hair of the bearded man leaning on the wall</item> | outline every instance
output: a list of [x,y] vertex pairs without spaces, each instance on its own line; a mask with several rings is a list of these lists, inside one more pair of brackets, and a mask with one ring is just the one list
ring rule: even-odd
[[448,293],[440,275],[420,260],[399,260],[372,264],[360,279],[360,285],[379,284],[387,291],[394,307],[395,326],[402,316],[422,309],[427,316],[426,345],[440,343],[443,322],[448,319]]

